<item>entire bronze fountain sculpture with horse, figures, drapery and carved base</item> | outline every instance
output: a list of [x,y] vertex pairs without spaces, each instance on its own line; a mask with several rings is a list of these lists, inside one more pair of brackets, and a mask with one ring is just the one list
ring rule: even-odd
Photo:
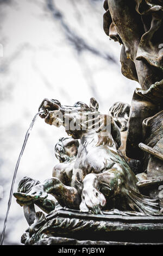
[[[27,245],[162,244],[163,3],[105,0],[104,9],[105,33],[122,44],[122,74],[141,89],[131,106],[116,102],[109,114],[94,98],[90,106],[42,101],[40,117],[71,138],[55,147],[53,178],[25,177],[14,193],[30,225]],[[35,213],[34,204],[48,215]]]

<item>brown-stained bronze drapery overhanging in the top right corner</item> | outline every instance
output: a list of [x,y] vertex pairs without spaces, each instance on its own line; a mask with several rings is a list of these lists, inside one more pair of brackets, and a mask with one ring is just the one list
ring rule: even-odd
[[142,89],[162,79],[162,1],[105,0],[104,31],[123,44],[122,74]]

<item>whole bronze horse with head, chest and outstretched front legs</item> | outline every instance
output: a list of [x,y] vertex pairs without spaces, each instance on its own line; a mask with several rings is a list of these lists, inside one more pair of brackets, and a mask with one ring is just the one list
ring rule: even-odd
[[[137,178],[131,171],[117,149],[121,145],[120,131],[112,117],[98,112],[98,103],[90,100],[90,107],[83,102],[77,102],[74,106],[64,106],[58,100],[43,100],[40,109],[46,109],[46,123],[58,126],[62,124],[66,132],[72,138],[80,139],[78,155],[74,162],[71,186],[65,186],[64,179],[60,176],[48,179],[42,184],[33,186],[29,193],[14,193],[21,204],[29,204],[32,200],[45,199],[47,193],[51,193],[61,206],[70,209],[80,209],[83,212],[98,214],[101,209],[110,210],[137,210],[140,212],[159,211],[157,200],[143,196],[137,188]],[[68,124],[65,122],[68,111]],[[59,118],[62,113],[64,121]],[[86,119],[80,119],[81,113],[85,113]],[[93,121],[87,121],[89,114],[93,113]],[[70,118],[69,118],[70,117]],[[104,123],[108,119],[107,131]],[[85,126],[85,130],[71,128],[71,121]],[[104,122],[104,123],[103,123]],[[95,127],[98,125],[98,131]],[[100,127],[100,129],[99,129]],[[105,135],[103,135],[103,128]],[[98,160],[98,161],[97,161]],[[53,173],[54,174],[54,173]],[[121,202],[121,203],[120,203]]]

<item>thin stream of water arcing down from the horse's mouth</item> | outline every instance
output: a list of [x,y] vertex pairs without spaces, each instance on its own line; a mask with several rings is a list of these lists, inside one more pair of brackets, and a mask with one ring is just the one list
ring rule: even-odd
[[21,157],[23,155],[24,149],[26,147],[26,144],[27,144],[27,141],[28,141],[28,138],[29,138],[29,135],[30,135],[30,131],[32,130],[32,127],[33,127],[37,117],[39,116],[39,114],[42,114],[44,112],[45,111],[42,110],[42,111],[38,112],[37,114],[35,114],[35,116],[34,116],[34,118],[32,120],[32,123],[30,124],[29,129],[26,132],[26,136],[24,138],[23,146],[22,146],[20,155],[18,156],[18,160],[17,160],[17,163],[16,163],[15,171],[14,171],[14,176],[12,178],[12,184],[11,184],[11,189],[10,189],[10,197],[9,197],[9,201],[8,201],[8,209],[7,209],[7,214],[6,214],[5,220],[4,220],[4,226],[3,226],[3,231],[2,231],[2,235],[1,235],[0,245],[3,245],[4,234],[5,234],[5,229],[6,229],[7,221],[8,221],[8,215],[9,215],[9,210],[10,210],[10,206],[11,206],[11,200],[12,200],[12,194],[13,194],[13,189],[14,189],[14,183],[15,183],[15,179],[16,179],[17,169],[18,169],[18,166],[20,164],[20,160],[21,160]]

